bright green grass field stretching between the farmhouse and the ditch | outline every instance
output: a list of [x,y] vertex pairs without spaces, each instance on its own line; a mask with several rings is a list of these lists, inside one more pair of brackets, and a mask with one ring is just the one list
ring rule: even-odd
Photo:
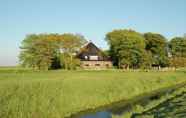
[[186,82],[186,73],[0,68],[0,118],[63,118]]

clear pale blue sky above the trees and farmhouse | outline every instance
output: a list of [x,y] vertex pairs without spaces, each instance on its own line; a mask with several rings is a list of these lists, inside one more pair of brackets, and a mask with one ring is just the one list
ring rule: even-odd
[[183,36],[186,0],[0,0],[0,66],[18,64],[27,34],[78,33],[107,49],[114,29]]

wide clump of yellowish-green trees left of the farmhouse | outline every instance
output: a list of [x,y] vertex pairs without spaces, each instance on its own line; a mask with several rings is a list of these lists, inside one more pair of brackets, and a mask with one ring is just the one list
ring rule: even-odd
[[[31,34],[21,43],[20,63],[25,67],[39,70],[63,67],[71,69],[74,53],[86,42],[81,35],[74,34]],[[62,63],[62,54],[70,57],[70,62]],[[67,60],[67,59],[66,59]],[[61,64],[61,65],[60,65]],[[65,66],[66,65],[66,66]]]

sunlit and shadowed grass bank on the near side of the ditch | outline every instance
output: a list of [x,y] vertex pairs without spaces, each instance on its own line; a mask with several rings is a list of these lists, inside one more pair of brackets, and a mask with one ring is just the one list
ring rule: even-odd
[[[172,99],[177,99],[177,97],[180,97],[182,95],[184,96],[184,94],[186,93],[186,86],[185,86],[185,83],[183,83],[181,85],[176,85],[174,87],[170,87],[169,89],[164,89],[164,90],[165,91],[159,91],[160,92],[159,94],[155,94],[157,95],[156,97],[145,96],[143,99],[139,99],[136,102],[129,103],[128,106],[126,107],[122,107],[122,108],[116,107],[112,112],[112,118],[136,118],[139,115],[145,115],[146,113],[153,111],[153,109],[157,107],[161,107],[162,104],[165,104],[165,103],[168,104],[168,102]],[[179,100],[180,99],[177,100],[178,104],[180,103]],[[184,101],[184,98],[182,99],[182,101]],[[182,105],[180,104],[180,106]],[[165,105],[164,107],[166,109],[166,107],[168,108],[169,105],[167,106]],[[180,107],[174,106],[172,108],[179,109]],[[162,111],[161,108],[157,109],[157,111],[158,110]],[[117,111],[119,111],[119,113]],[[150,113],[150,114],[148,113],[147,116],[149,116],[149,118],[158,117],[157,115],[159,113],[157,113],[157,111],[154,110],[154,113]],[[164,112],[164,115],[165,115],[164,117],[166,117],[170,111],[172,111],[172,109],[169,111],[168,110],[162,111]],[[172,117],[174,117],[174,115],[172,114]],[[141,116],[139,118],[144,118],[144,117],[146,118],[147,116]]]

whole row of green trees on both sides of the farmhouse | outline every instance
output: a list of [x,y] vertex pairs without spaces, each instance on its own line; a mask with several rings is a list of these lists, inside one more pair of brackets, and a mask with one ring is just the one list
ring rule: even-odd
[[[166,39],[157,33],[113,30],[105,36],[117,68],[151,69],[152,67],[186,67],[186,37]],[[21,44],[20,64],[39,70],[77,69],[76,54],[87,43],[79,34],[31,34]]]

